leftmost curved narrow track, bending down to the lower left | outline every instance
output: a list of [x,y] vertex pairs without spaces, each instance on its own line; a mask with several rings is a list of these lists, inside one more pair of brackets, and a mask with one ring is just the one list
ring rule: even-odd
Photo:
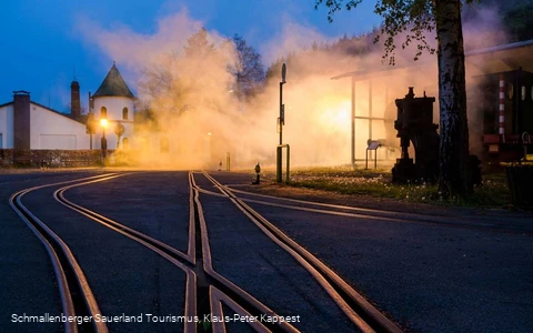
[[[115,174],[102,174],[78,180],[51,183],[40,186],[33,186],[19,191],[11,195],[9,204],[17,212],[17,214],[26,222],[28,228],[36,234],[36,236],[44,245],[48,255],[50,256],[56,279],[58,280],[59,295],[61,299],[61,307],[64,316],[92,316],[100,313],[98,303],[92,294],[92,291],[87,282],[86,275],[74,259],[69,246],[56,234],[46,223],[37,218],[24,204],[22,198],[37,190],[44,188],[64,185],[69,183],[83,182],[87,180],[98,179],[105,181],[115,178]],[[64,332],[98,332],[107,333],[108,327],[102,322],[64,322]]]

